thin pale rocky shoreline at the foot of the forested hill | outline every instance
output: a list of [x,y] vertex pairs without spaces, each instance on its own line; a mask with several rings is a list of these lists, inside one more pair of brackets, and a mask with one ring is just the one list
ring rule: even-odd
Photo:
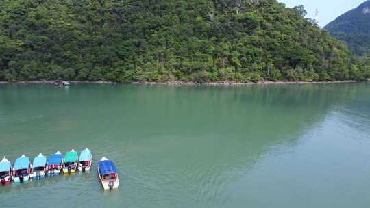
[[[330,84],[330,83],[360,83],[369,82],[370,79],[364,81],[347,80],[347,81],[260,81],[260,82],[184,82],[184,81],[169,81],[169,82],[131,82],[131,83],[118,83],[114,81],[68,81],[73,84],[134,84],[134,85],[167,85],[167,86],[251,86],[251,85],[288,85],[288,84]],[[54,84],[55,81],[0,81],[0,84]]]

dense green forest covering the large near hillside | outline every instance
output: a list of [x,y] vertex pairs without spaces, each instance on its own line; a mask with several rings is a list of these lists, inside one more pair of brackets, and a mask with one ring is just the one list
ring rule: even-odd
[[335,81],[369,68],[275,0],[0,0],[0,80]]

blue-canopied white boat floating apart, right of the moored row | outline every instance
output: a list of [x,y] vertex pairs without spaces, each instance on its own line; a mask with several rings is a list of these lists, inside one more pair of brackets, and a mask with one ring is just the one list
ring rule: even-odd
[[112,160],[102,157],[98,164],[98,173],[104,190],[112,190],[119,187],[117,168]]

